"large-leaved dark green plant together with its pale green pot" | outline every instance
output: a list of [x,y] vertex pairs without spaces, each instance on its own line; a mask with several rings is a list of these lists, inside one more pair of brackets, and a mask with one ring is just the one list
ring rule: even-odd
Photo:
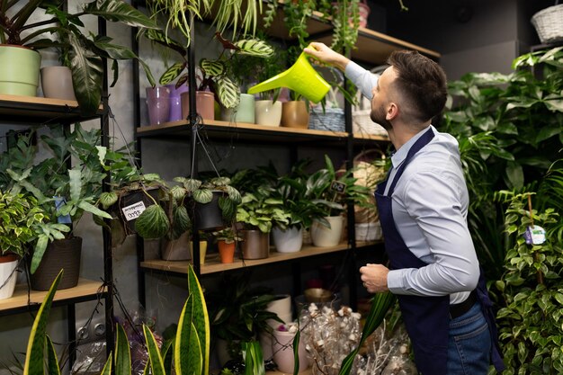
[[[137,58],[135,54],[123,46],[111,43],[106,36],[89,37],[79,27],[84,26],[80,17],[94,14],[110,22],[122,22],[131,27],[156,28],[146,15],[140,13],[130,4],[121,0],[94,1],[85,4],[82,12],[67,13],[63,10],[63,1],[58,0],[50,4],[47,11],[41,8],[40,0],[30,0],[22,4],[16,12],[15,6],[21,2],[6,2],[0,9],[0,93],[21,94],[35,96],[39,82],[40,54],[36,49],[59,49],[61,59],[68,64],[72,71],[73,86],[76,99],[83,113],[98,111],[103,90],[103,58],[113,60],[114,78],[117,78],[118,59]],[[49,14],[47,20],[31,22],[31,15],[43,10]],[[22,35],[23,31],[30,31]],[[50,33],[56,33],[59,40],[49,40]],[[23,47],[23,48],[22,48]],[[15,55],[13,55],[15,54]],[[22,64],[22,60],[32,61]],[[138,58],[139,60],[139,58]],[[154,80],[148,67],[143,61],[139,63],[145,67],[151,84]],[[15,65],[14,65],[15,64]],[[4,77],[13,81],[16,72],[23,66],[30,66],[22,77],[22,84],[2,83]],[[32,67],[31,67],[32,65]]]

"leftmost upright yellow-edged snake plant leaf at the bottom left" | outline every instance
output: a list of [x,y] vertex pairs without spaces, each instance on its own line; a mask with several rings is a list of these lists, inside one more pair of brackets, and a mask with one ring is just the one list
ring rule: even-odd
[[45,358],[45,336],[47,335],[47,322],[49,320],[49,311],[58,283],[63,277],[63,270],[58,272],[58,276],[51,284],[43,303],[37,313],[37,317],[31,326],[31,334],[27,343],[27,355],[25,356],[25,364],[23,365],[23,375],[44,375],[43,360]]

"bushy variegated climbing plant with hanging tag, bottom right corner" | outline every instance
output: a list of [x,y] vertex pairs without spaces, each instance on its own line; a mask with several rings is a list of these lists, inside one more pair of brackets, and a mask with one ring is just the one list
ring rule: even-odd
[[[511,246],[505,273],[496,281],[505,307],[498,310],[499,338],[505,354],[503,374],[559,374],[563,337],[563,248],[549,228],[562,219],[549,208],[532,210],[532,192],[503,192],[506,234]],[[531,229],[548,229],[545,242],[526,239]]]

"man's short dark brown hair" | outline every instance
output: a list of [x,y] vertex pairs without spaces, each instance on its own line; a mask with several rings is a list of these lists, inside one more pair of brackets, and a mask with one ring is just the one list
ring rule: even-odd
[[442,67],[414,50],[393,51],[387,62],[397,72],[398,92],[412,105],[417,120],[428,121],[442,112],[447,97]]

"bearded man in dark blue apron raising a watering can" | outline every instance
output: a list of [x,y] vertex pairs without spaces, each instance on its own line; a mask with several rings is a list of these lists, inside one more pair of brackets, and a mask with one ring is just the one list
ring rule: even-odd
[[380,75],[322,43],[310,56],[344,71],[371,98],[371,120],[396,149],[388,180],[375,193],[389,256],[360,268],[371,293],[390,290],[424,375],[487,374],[502,369],[496,326],[467,226],[469,195],[455,138],[431,125],[446,102],[446,76],[416,51],[396,51]]

